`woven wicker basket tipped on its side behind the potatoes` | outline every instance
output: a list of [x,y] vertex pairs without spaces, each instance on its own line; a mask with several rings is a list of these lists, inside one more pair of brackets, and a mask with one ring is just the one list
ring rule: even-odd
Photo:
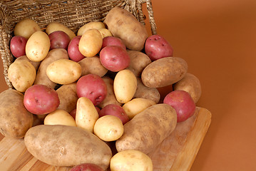
[[51,21],[58,21],[76,33],[78,28],[89,21],[103,21],[108,11],[115,6],[130,11],[138,21],[145,24],[145,15],[142,11],[144,3],[147,6],[151,31],[155,34],[156,26],[150,0],[1,0],[0,55],[7,85],[13,88],[7,76],[8,68],[14,61],[9,43],[11,37],[14,36],[14,26],[21,19],[33,19],[41,29],[45,29]]

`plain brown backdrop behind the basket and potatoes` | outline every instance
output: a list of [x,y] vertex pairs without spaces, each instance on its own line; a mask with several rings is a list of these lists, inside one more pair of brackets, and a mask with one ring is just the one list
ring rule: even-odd
[[200,79],[198,106],[213,115],[191,171],[256,170],[256,1],[153,0],[153,11],[158,34]]

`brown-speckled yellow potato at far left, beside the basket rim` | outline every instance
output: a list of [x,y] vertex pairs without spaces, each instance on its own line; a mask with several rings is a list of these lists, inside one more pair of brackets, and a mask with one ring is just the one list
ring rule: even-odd
[[36,79],[36,69],[29,61],[14,61],[9,66],[8,78],[16,90],[25,92]]

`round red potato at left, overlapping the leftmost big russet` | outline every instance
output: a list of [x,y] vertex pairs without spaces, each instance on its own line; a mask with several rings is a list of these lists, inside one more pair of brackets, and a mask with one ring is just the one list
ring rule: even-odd
[[24,106],[36,115],[51,113],[60,104],[58,93],[53,88],[44,85],[29,87],[24,93]]

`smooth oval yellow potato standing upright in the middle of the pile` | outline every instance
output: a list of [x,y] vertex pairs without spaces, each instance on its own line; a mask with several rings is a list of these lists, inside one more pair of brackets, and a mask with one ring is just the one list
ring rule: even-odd
[[128,69],[119,71],[113,83],[116,100],[119,103],[127,103],[133,98],[137,89],[137,78]]

